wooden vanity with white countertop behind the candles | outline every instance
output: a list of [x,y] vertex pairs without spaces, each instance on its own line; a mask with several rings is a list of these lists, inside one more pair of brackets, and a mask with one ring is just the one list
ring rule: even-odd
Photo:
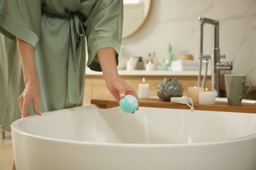
[[[85,92],[83,105],[90,104],[91,99],[99,97],[112,97],[111,93],[106,88],[106,83],[101,72],[91,71],[87,68],[85,75]],[[150,84],[150,96],[156,95],[156,90],[160,82],[164,78],[177,78],[184,88],[188,86],[197,86],[198,71],[125,71],[119,70],[121,78],[129,84],[138,93],[139,84],[142,83],[142,78],[145,78],[147,84]],[[211,89],[211,76],[207,76],[205,87]]]

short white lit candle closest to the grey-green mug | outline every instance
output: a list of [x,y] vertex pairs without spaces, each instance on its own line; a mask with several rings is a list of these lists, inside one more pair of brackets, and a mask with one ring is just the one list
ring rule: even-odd
[[215,92],[205,91],[199,92],[199,104],[200,105],[215,105]]

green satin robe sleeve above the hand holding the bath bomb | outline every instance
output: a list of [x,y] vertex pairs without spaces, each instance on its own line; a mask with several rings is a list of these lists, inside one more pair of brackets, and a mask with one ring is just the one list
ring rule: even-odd
[[87,66],[94,71],[101,71],[97,51],[101,48],[114,48],[116,62],[121,46],[123,29],[123,1],[96,1],[95,7],[85,22],[88,61]]

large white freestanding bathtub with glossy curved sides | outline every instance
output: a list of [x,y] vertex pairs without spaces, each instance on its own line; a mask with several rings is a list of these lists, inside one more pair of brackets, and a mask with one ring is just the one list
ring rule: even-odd
[[86,105],[11,127],[18,170],[256,169],[256,114]]

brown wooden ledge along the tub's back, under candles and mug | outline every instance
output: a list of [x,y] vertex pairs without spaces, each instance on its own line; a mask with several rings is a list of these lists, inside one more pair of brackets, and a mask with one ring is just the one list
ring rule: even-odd
[[[119,103],[112,97],[101,97],[98,99],[91,99],[91,104],[98,105],[100,108],[111,108],[119,106]],[[160,108],[171,108],[171,109],[190,109],[187,105],[181,105],[177,103],[171,103],[168,101],[162,101],[156,97],[150,99],[139,99],[140,107],[160,107]],[[223,112],[249,112],[256,113],[256,103],[242,103],[241,106],[231,106],[227,102],[216,102],[215,105],[200,105],[194,103],[195,110],[212,110],[212,111],[223,111]]]

